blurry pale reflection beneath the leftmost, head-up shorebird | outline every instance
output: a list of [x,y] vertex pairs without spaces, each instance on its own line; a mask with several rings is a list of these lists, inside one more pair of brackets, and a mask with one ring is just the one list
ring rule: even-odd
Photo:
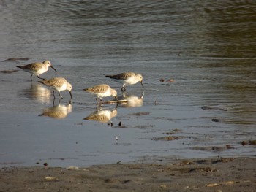
[[30,88],[24,89],[23,96],[29,99],[36,99],[42,103],[50,103],[51,91],[39,83],[30,83]]

